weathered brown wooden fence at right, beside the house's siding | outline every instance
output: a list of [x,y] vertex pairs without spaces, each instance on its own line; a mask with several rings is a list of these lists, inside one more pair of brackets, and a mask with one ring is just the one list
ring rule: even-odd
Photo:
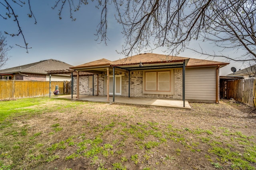
[[229,80],[227,82],[227,98],[256,106],[255,79]]

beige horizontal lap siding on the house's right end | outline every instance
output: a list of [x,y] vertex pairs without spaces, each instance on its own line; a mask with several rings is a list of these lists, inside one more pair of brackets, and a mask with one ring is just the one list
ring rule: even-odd
[[216,100],[216,67],[186,68],[186,100]]

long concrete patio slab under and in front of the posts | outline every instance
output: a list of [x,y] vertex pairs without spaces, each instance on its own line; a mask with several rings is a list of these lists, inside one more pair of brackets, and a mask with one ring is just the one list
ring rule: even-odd
[[[52,96],[56,97],[56,96]],[[58,98],[71,99],[71,95],[60,95]],[[76,95],[73,95],[72,100],[77,100]],[[88,95],[79,95],[79,100],[90,101],[90,102],[105,102],[113,103],[113,97],[109,97],[107,101],[106,96],[88,96]],[[120,104],[133,104],[133,105],[144,105],[144,106],[155,106],[155,107],[170,107],[170,108],[179,108],[179,109],[191,109],[188,101],[185,101],[185,107],[183,107],[182,100],[172,100],[172,99],[159,99],[159,98],[136,98],[136,97],[121,97],[115,96],[115,102]]]

